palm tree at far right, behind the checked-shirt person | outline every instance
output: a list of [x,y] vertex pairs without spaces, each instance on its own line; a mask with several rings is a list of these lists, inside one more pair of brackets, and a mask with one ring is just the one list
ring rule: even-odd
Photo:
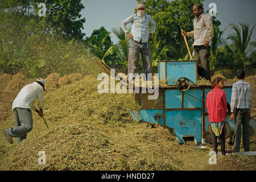
[[234,60],[241,64],[243,68],[246,67],[246,63],[249,60],[249,55],[253,49],[256,48],[256,42],[250,42],[251,34],[253,33],[254,26],[249,31],[249,24],[239,23],[242,29],[237,24],[231,23],[230,26],[236,31],[235,34],[230,35],[227,40],[231,40],[230,46],[226,45],[226,48],[232,53]]

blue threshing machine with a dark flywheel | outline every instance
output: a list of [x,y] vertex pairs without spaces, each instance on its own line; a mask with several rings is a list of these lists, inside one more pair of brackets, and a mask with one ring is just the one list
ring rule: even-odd
[[[159,87],[159,97],[148,100],[148,93],[138,94],[142,109],[131,110],[132,117],[151,125],[168,127],[179,143],[187,140],[195,143],[210,142],[209,119],[205,100],[212,90],[209,84],[197,84],[196,61],[158,61],[159,81],[166,86]],[[230,104],[232,84],[224,85],[227,103]],[[226,116],[231,133],[234,121]],[[138,119],[139,118],[139,119]]]

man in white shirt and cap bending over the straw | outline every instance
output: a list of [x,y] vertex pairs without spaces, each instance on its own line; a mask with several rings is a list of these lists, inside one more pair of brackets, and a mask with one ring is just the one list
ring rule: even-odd
[[[16,96],[13,101],[15,127],[2,131],[9,143],[13,143],[12,137],[16,137],[18,143],[26,139],[27,133],[33,127],[32,110],[36,111],[40,117],[43,117],[44,85],[43,78],[38,78],[32,84],[24,86]],[[38,100],[39,110],[34,105],[36,100]]]

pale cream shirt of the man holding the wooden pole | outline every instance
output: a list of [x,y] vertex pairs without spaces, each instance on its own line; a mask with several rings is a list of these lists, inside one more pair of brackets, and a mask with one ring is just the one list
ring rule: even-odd
[[193,26],[194,30],[187,32],[188,36],[193,36],[195,39],[193,46],[202,46],[205,41],[209,42],[209,46],[211,46],[213,36],[212,17],[201,14],[198,19],[195,17]]

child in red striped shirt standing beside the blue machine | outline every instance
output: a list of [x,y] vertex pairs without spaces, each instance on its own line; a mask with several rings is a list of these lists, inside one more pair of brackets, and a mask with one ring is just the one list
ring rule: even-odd
[[223,78],[216,77],[213,82],[213,89],[207,94],[206,106],[209,117],[209,131],[212,136],[214,157],[217,157],[217,137],[220,137],[222,155],[226,155],[224,125],[226,118],[226,93],[221,90],[224,86]]

